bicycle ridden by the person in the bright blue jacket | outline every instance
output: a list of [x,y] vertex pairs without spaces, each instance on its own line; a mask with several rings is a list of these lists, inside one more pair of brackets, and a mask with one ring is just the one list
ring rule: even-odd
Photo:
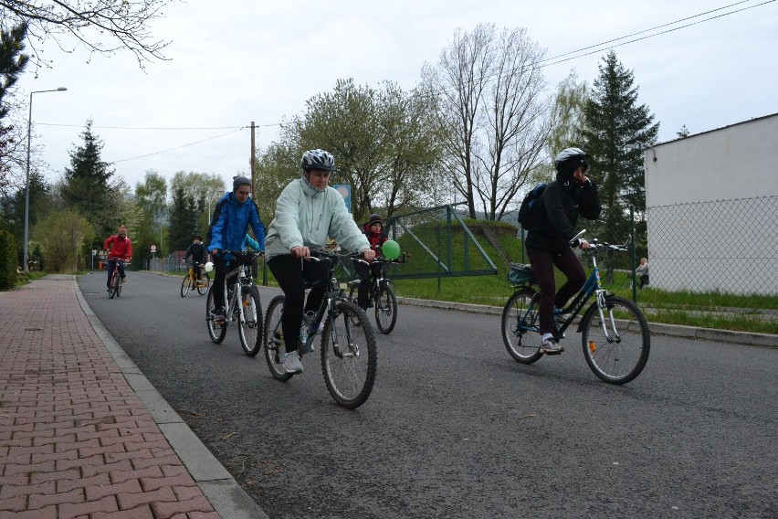
[[222,256],[232,255],[230,263],[237,265],[225,275],[226,304],[225,322],[216,323],[214,312],[214,287],[208,289],[205,300],[205,323],[211,341],[221,344],[225,340],[226,327],[229,323],[237,323],[237,334],[243,353],[256,356],[262,346],[262,303],[259,300],[259,290],[250,268],[254,260],[264,252],[243,252],[241,250],[222,250]]

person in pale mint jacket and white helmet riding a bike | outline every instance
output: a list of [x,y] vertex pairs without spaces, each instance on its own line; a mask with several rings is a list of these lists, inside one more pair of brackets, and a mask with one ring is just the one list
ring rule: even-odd
[[302,373],[297,340],[303,312],[319,308],[326,288],[311,290],[305,301],[303,283],[326,278],[329,273],[325,261],[308,260],[310,249],[324,247],[331,237],[342,249],[361,250],[367,261],[375,258],[367,238],[346,210],[343,197],[328,185],[335,171],[335,158],[324,150],[309,150],[302,154],[300,167],[301,178],[284,187],[276,202],[276,216],[265,238],[268,268],[286,296],[281,329],[287,373]]

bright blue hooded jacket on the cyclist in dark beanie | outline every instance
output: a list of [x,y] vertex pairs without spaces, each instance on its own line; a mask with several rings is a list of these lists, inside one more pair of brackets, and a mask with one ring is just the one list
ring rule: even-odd
[[260,249],[265,249],[265,226],[259,218],[257,204],[248,198],[246,202],[237,201],[234,193],[225,196],[216,204],[216,210],[211,219],[211,243],[208,252],[219,250],[242,250],[248,226],[254,229],[254,236]]

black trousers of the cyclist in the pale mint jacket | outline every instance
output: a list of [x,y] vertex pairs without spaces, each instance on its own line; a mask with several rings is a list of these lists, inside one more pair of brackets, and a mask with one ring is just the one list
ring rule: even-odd
[[[269,260],[268,268],[286,296],[284,313],[281,316],[281,330],[284,333],[284,344],[287,352],[294,352],[297,351],[303,312],[319,310],[324,292],[327,291],[327,287],[324,285],[311,289],[308,301],[305,301],[304,283],[305,281],[326,280],[330,270],[329,264],[326,260],[306,261],[292,258],[291,254],[284,254]],[[305,302],[304,308],[303,302]]]

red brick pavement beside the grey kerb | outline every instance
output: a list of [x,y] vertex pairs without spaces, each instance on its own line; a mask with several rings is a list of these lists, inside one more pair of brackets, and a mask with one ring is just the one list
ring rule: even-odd
[[219,515],[81,311],[74,282],[0,293],[0,518]]

